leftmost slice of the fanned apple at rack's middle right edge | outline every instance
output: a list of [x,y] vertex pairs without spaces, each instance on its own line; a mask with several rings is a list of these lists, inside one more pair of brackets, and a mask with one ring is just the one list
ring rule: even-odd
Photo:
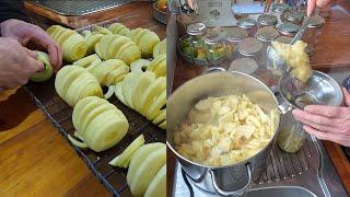
[[132,91],[138,84],[139,78],[142,72],[129,72],[122,80],[121,93],[127,105],[135,108],[132,104]]

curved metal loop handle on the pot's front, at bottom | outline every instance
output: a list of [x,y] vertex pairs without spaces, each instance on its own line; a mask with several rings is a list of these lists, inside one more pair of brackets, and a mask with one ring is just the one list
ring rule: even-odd
[[246,166],[246,170],[247,170],[248,182],[244,187],[240,188],[238,190],[223,190],[222,188],[220,188],[220,186],[217,183],[214,171],[210,170],[209,172],[210,172],[211,179],[212,179],[212,185],[213,185],[215,192],[221,196],[243,196],[248,190],[249,186],[252,185],[250,164],[247,163],[245,166]]

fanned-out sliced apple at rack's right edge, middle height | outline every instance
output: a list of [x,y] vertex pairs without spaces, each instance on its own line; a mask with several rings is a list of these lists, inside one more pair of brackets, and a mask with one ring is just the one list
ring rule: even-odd
[[166,79],[151,71],[129,72],[116,85],[116,96],[153,124],[166,129]]

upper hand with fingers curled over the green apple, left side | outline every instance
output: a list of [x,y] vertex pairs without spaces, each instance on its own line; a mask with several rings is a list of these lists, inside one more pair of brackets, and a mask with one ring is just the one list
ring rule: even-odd
[[55,40],[40,27],[19,21],[8,20],[1,23],[1,36],[18,40],[23,46],[34,44],[44,48],[49,56],[54,70],[59,70],[62,65],[62,51]]

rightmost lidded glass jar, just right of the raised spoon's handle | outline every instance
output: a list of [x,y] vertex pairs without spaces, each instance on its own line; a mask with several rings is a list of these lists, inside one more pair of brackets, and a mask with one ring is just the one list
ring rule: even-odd
[[319,15],[310,18],[310,23],[302,38],[307,44],[306,53],[310,56],[312,56],[314,53],[315,45],[318,42],[322,27],[324,26],[324,24],[325,24],[325,20]]

